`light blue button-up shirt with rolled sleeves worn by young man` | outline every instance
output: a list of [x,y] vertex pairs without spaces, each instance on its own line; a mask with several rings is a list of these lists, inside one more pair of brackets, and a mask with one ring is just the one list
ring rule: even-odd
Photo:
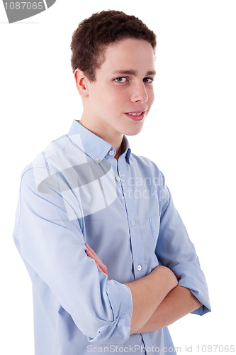
[[[130,333],[128,283],[156,266],[210,310],[206,279],[164,176],[74,121],[25,170],[13,237],[33,283],[36,355],[173,354],[167,328]],[[88,243],[108,277],[86,256]]]

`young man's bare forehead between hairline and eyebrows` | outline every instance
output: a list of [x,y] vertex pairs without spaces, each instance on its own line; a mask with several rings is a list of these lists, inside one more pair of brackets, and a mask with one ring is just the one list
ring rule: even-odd
[[154,50],[147,40],[127,38],[108,45],[100,70],[154,71]]

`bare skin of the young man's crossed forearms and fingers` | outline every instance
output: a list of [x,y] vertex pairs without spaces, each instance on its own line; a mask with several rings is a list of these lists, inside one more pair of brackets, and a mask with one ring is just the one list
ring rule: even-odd
[[[88,244],[86,247],[89,249],[86,254],[94,258],[97,268],[108,275],[106,266],[96,253]],[[174,273],[164,266],[157,266],[145,278],[126,285],[133,299],[130,334],[153,332],[167,327],[202,306],[189,288],[177,285]]]

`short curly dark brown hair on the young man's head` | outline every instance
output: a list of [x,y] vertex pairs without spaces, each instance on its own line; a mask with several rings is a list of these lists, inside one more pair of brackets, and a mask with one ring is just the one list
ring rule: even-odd
[[86,18],[72,35],[73,72],[79,68],[94,82],[106,47],[125,38],[147,40],[153,50],[157,45],[156,35],[139,18],[122,11],[101,11]]

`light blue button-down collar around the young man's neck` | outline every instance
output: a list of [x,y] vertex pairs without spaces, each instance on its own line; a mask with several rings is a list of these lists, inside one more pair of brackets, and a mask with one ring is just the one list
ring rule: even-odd
[[[110,143],[104,141],[99,136],[96,136],[96,134],[89,131],[89,129],[86,129],[82,124],[79,124],[79,121],[73,121],[68,136],[74,144],[96,162],[103,160],[111,150],[115,151],[116,154],[116,150]],[[128,139],[125,136],[123,137],[123,146],[125,149],[125,159],[130,164],[131,150]]]

